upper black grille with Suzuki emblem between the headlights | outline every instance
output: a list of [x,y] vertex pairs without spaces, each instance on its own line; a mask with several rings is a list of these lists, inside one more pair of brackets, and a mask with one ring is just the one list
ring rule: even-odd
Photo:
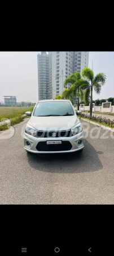
[[59,138],[59,137],[71,137],[71,130],[67,131],[38,131],[37,137],[39,138]]

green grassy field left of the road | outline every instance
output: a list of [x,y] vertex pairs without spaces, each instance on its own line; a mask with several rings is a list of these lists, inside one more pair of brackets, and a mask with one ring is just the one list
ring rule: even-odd
[[[26,107],[0,107],[0,121],[2,121],[2,118],[7,118],[11,120],[11,125],[16,125],[16,123],[20,123],[23,121],[25,117],[22,115],[25,114],[25,112],[33,111],[33,107],[26,108]],[[0,131],[7,130],[8,126],[0,125]]]

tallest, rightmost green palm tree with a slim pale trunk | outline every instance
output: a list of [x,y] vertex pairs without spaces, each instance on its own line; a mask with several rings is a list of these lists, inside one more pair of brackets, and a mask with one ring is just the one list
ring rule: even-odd
[[98,73],[94,76],[94,72],[90,68],[84,68],[82,70],[82,76],[87,80],[82,82],[81,88],[85,88],[85,98],[90,94],[90,119],[92,118],[92,109],[93,109],[93,88],[95,93],[99,94],[102,88],[102,85],[106,82],[106,75],[104,73]]

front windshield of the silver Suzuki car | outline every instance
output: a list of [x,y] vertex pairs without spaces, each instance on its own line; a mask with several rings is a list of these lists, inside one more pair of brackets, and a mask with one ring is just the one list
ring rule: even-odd
[[33,115],[36,117],[74,115],[74,111],[70,102],[46,101],[38,102]]

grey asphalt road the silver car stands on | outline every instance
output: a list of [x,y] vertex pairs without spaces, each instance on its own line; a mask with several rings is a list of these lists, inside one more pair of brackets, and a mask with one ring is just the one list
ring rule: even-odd
[[99,138],[91,138],[95,126],[90,124],[82,152],[41,156],[24,150],[26,122],[15,126],[10,139],[0,134],[0,204],[114,203],[114,134],[100,138],[106,131],[97,127]]

